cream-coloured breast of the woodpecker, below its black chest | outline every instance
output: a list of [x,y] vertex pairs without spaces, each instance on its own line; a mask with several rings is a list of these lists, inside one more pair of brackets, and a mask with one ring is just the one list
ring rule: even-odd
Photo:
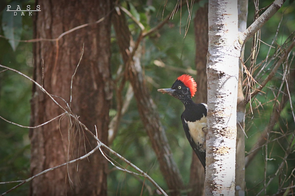
[[[185,120],[185,119],[184,119]],[[197,147],[200,150],[206,149],[206,127],[207,127],[207,119],[204,115],[200,120],[196,120],[194,122],[186,121],[191,137],[196,143]]]

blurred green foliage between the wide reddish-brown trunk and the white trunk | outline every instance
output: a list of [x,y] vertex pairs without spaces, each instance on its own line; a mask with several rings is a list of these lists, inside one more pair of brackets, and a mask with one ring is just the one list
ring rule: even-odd
[[[133,16],[137,17],[132,11],[133,7],[131,3],[125,5],[126,9],[132,13]],[[145,4],[132,1],[132,4],[136,7],[137,13],[140,16],[140,22],[144,24],[147,30],[150,27],[154,27],[162,21],[163,2],[153,1],[153,8],[151,6],[144,6]],[[162,4],[162,6],[161,6]],[[174,9],[174,3],[168,3],[165,7],[163,17],[165,18]],[[130,7],[130,8],[129,8]],[[146,11],[150,14],[150,24],[145,24]],[[157,92],[158,88],[169,88],[175,79],[183,74],[183,72],[176,72],[169,70],[168,68],[161,68],[154,64],[155,60],[162,61],[166,65],[186,69],[188,67],[194,68],[194,56],[195,56],[195,42],[194,42],[194,29],[193,21],[189,33],[184,38],[185,24],[188,13],[186,8],[182,8],[182,22],[181,22],[181,34],[180,30],[180,10],[174,14],[174,19],[169,21],[168,25],[163,26],[158,32],[152,36],[145,38],[144,49],[141,56],[141,66],[144,69],[144,75],[148,78],[148,87],[151,92],[151,96],[154,102],[158,106],[158,112],[160,113],[162,124],[166,130],[169,144],[172,148],[173,157],[179,166],[181,175],[184,182],[189,182],[189,168],[191,163],[192,149],[187,142],[185,133],[182,128],[180,115],[184,110],[183,104],[178,100]],[[128,25],[136,40],[139,27],[132,21],[128,16],[126,17]],[[112,33],[115,36],[115,33]],[[112,48],[118,51],[117,43],[114,38]],[[117,68],[122,63],[119,59],[119,55],[113,53],[112,55],[112,71],[113,76],[116,77]],[[115,66],[117,65],[117,66]],[[123,95],[127,91],[127,86]],[[114,100],[113,108],[116,109],[116,102]],[[139,114],[137,112],[137,105],[135,100],[124,114],[120,127],[119,133],[112,144],[112,149],[123,155],[125,158],[130,160],[132,163],[137,165],[139,168],[148,172],[148,174],[164,189],[167,189],[165,180],[160,173],[159,164],[155,153],[151,147],[149,138],[144,130]],[[123,165],[125,166],[125,165]],[[109,165],[112,168],[111,165]],[[128,167],[130,168],[130,167]],[[132,192],[134,195],[140,195],[141,188],[143,185],[143,178],[135,180],[138,177],[134,177],[130,174],[123,173],[121,171],[112,171],[108,176],[108,186],[110,195],[130,195]],[[144,182],[150,186],[153,191],[155,188],[147,180]],[[147,189],[144,188],[144,195],[148,195]]]

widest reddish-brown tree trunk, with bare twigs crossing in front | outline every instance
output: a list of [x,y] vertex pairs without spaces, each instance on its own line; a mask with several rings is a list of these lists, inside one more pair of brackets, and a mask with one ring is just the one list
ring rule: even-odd
[[[41,41],[34,44],[34,80],[66,106],[71,93],[71,111],[90,130],[98,130],[98,138],[107,144],[111,91],[109,13],[112,2],[106,1],[40,1],[42,11],[35,17],[35,38],[57,38],[76,26],[93,23],[63,36],[58,43]],[[105,17],[99,23],[95,21]],[[58,46],[58,47],[57,47]],[[44,61],[44,74],[42,66]],[[33,85],[31,126],[46,122],[63,111]],[[72,124],[71,124],[72,123]],[[86,138],[87,137],[87,138]],[[30,130],[31,174],[78,158],[91,151],[97,142],[83,133],[71,118],[60,118]],[[30,195],[107,195],[107,160],[94,153],[67,167],[47,172],[32,180]]]

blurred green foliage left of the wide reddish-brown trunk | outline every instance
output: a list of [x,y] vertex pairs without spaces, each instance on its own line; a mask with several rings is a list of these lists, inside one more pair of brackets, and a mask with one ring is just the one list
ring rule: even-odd
[[[31,6],[33,2],[29,3]],[[26,7],[28,2],[7,3],[11,6]],[[0,64],[17,69],[27,76],[32,75],[32,44],[19,43],[16,40],[32,38],[32,18],[17,16],[11,18],[12,12],[1,14],[1,34],[9,38],[0,38]],[[14,40],[16,39],[16,40]],[[3,71],[3,69],[0,69]],[[3,71],[0,73],[0,115],[14,123],[29,126],[30,99],[32,84],[24,77]],[[5,122],[0,119],[0,181],[24,180],[30,177],[30,141],[29,129]],[[0,185],[3,193],[17,183]],[[27,195],[29,184],[19,187],[14,195]]]

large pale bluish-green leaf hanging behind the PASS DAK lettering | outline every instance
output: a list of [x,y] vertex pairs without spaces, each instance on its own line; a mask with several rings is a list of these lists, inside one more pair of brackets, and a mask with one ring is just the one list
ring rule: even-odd
[[[12,8],[16,8],[18,3],[11,2]],[[2,29],[4,32],[4,36],[9,39],[9,43],[15,51],[17,45],[19,44],[20,36],[22,34],[22,16],[21,12],[17,12],[17,15],[14,16],[13,11],[3,10],[2,14]]]

